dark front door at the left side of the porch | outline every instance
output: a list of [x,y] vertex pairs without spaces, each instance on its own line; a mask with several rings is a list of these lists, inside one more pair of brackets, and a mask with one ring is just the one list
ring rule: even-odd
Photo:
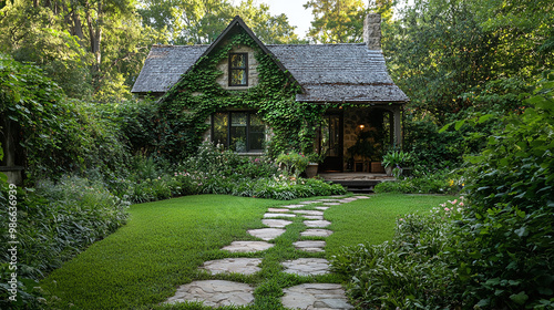
[[342,172],[342,114],[327,114],[324,116],[319,133],[319,154],[327,157],[320,165],[321,172]]

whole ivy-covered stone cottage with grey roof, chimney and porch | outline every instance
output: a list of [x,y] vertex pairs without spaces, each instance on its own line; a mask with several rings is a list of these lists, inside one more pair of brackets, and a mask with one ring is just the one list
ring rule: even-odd
[[[320,170],[370,172],[384,145],[401,144],[401,111],[409,101],[388,74],[380,22],[379,14],[366,18],[365,43],[266,45],[236,17],[209,45],[154,45],[132,92],[160,97],[171,106],[166,115],[182,110],[178,117],[202,123],[191,130],[168,122],[188,145],[198,136],[252,155],[279,135],[281,144],[308,138],[327,155]],[[295,115],[273,115],[271,106],[320,115],[290,123],[295,133],[287,137],[279,117]]]

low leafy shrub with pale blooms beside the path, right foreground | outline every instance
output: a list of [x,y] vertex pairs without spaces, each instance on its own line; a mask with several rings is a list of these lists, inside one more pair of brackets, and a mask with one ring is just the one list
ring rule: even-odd
[[391,242],[342,248],[334,256],[332,269],[351,278],[348,294],[356,304],[362,309],[458,304],[458,273],[444,251],[460,238],[454,220],[461,218],[462,206],[454,200],[429,215],[407,215],[398,219]]

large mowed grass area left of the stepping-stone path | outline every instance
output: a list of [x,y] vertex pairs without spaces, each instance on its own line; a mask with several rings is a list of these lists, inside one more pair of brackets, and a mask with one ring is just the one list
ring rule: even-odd
[[278,204],[202,195],[134,205],[127,225],[52,272],[41,287],[62,300],[62,309],[65,301],[76,309],[158,303],[191,282],[211,251],[252,238],[246,230],[261,227],[264,213]]

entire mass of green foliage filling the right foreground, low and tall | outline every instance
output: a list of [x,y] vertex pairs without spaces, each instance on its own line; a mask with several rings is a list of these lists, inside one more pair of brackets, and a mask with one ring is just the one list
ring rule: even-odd
[[[466,202],[399,220],[392,244],[345,249],[335,268],[365,307],[554,307],[554,75],[469,158]],[[413,281],[412,279],[417,279]]]

